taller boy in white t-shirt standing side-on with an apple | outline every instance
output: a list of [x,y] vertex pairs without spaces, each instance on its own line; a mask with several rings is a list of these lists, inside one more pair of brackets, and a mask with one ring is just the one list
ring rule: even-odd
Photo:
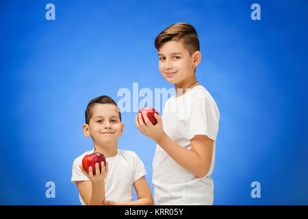
[[159,71],[177,94],[166,101],[154,126],[136,115],[139,131],[157,143],[153,158],[155,205],[212,205],[216,136],[220,113],[211,94],[196,80],[201,61],[192,25],[175,23],[155,38]]

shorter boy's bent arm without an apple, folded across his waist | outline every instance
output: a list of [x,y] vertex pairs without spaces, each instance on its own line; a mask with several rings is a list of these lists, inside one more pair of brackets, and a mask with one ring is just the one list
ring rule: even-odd
[[135,187],[135,190],[138,196],[137,201],[129,201],[126,203],[116,203],[114,201],[105,201],[104,202],[105,205],[153,205],[153,198],[152,198],[151,190],[144,176],[138,179],[136,182],[134,182],[133,186]]

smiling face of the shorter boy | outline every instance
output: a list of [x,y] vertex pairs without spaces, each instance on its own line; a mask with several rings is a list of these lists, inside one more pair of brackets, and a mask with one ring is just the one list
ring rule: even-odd
[[95,104],[89,124],[84,124],[85,136],[91,136],[94,143],[108,146],[118,142],[123,135],[124,123],[120,122],[118,107],[112,104]]

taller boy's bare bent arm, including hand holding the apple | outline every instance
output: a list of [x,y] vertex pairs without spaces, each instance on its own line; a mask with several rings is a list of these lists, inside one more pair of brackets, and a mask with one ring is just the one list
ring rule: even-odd
[[192,149],[185,149],[166,135],[162,127],[162,117],[154,114],[157,124],[153,125],[146,114],[136,116],[136,125],[144,136],[152,138],[159,146],[183,168],[192,172],[196,177],[205,177],[211,166],[213,140],[207,136],[198,135],[190,140]]

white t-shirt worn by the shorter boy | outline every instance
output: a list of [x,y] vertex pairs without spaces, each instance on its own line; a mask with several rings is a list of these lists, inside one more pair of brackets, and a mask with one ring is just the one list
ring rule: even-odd
[[[94,149],[83,153],[73,162],[72,183],[90,181],[79,168],[85,155],[93,153]],[[105,178],[105,198],[116,202],[133,201],[133,183],[146,174],[144,164],[133,151],[118,150],[114,157],[106,158],[109,166]],[[81,205],[86,205],[79,193]]]

